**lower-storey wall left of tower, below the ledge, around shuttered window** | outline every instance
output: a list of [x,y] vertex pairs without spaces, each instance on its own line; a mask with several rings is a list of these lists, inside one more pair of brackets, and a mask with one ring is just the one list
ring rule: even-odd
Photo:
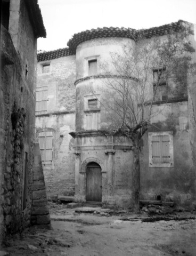
[[69,132],[75,130],[75,113],[36,117],[36,139],[41,131],[53,132],[53,162],[43,166],[48,198],[56,195],[74,195],[75,156],[74,139]]

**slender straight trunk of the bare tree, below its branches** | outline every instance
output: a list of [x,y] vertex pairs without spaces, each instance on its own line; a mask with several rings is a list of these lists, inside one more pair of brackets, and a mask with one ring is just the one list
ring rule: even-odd
[[132,180],[132,210],[140,208],[140,147],[137,138],[133,141],[133,180]]

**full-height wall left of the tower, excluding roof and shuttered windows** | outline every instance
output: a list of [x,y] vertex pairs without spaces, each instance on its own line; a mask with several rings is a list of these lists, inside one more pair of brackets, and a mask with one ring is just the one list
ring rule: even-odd
[[[44,65],[50,65],[48,73],[43,73]],[[74,139],[69,132],[75,130],[75,77],[75,55],[38,62],[37,89],[47,86],[47,111],[36,113],[36,140],[39,132],[53,135],[52,164],[43,165],[48,198],[74,195]]]

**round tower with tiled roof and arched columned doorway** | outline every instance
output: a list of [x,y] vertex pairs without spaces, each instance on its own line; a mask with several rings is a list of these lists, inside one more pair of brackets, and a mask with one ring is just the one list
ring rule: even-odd
[[75,34],[68,42],[77,61],[76,132],[71,134],[75,138],[76,202],[130,205],[132,142],[111,133],[113,114],[107,106],[114,92],[107,83],[122,79],[115,73],[112,54],[123,52],[125,45],[134,49],[133,34],[132,29],[93,29]]

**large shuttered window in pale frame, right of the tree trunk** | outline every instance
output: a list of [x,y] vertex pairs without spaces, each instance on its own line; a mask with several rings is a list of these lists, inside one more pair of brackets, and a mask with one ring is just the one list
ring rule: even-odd
[[149,132],[149,166],[173,167],[172,132]]

